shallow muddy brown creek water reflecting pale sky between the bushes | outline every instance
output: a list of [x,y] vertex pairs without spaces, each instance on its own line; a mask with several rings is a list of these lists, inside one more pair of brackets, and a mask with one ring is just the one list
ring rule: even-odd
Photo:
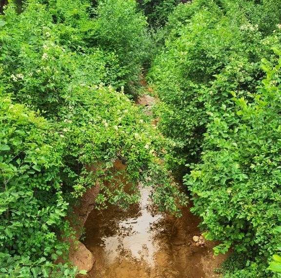
[[[144,94],[138,104],[149,113],[155,100]],[[120,170],[125,166],[118,162],[115,167]],[[88,277],[219,277],[213,269],[224,257],[213,255],[216,244],[203,239],[198,228],[200,220],[192,215],[190,207],[182,208],[182,217],[177,219],[155,208],[149,198],[150,188],[140,190],[140,202],[128,210],[109,206],[89,214],[83,243],[96,261]]]

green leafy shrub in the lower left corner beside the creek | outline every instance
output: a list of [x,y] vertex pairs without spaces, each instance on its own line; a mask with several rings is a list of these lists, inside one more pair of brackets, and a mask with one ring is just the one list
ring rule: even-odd
[[0,277],[49,273],[46,257],[66,249],[58,240],[68,205],[60,139],[45,119],[0,96]]

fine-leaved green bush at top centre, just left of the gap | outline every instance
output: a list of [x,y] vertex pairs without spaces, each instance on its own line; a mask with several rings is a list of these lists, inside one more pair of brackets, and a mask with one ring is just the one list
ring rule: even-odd
[[96,11],[92,37],[103,49],[116,51],[120,65],[128,70],[125,80],[135,82],[151,44],[145,17],[137,12],[135,0],[100,1]]

